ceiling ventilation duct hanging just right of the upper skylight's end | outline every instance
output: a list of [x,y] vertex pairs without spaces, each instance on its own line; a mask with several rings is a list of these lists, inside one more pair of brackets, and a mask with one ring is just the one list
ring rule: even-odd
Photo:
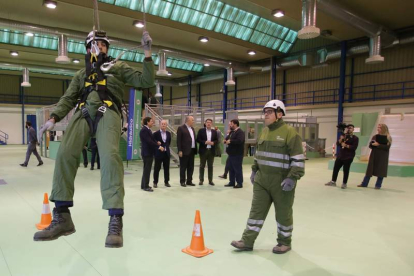
[[321,30],[316,27],[316,0],[302,0],[302,29],[298,32],[298,38],[315,38],[320,33]]

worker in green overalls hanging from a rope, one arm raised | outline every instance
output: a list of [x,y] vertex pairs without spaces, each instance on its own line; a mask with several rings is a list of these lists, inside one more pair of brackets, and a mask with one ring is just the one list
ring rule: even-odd
[[[124,168],[119,155],[121,138],[121,104],[125,84],[134,87],[154,86],[154,63],[151,58],[152,39],[144,32],[141,43],[145,60],[143,73],[124,62],[113,63],[104,73],[101,66],[112,61],[107,56],[109,39],[103,31],[92,31],[85,41],[85,68],[72,79],[60,98],[50,119],[39,135],[53,128],[76,106],[56,157],[50,200],[55,203],[49,227],[35,233],[35,241],[55,240],[75,232],[69,207],[73,207],[74,182],[82,148],[90,137],[96,137],[101,158],[101,195],[103,209],[109,211],[106,247],[122,247],[122,216],[124,214]],[[106,70],[105,70],[106,71]],[[80,101],[78,100],[80,99]]]

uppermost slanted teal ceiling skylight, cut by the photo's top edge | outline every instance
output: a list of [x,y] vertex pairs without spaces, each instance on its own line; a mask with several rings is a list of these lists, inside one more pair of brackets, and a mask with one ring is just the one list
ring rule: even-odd
[[[142,11],[142,0],[99,1]],[[296,31],[218,0],[147,0],[145,10],[155,16],[222,33],[283,53],[287,53],[297,39]],[[283,43],[285,41],[287,44]]]

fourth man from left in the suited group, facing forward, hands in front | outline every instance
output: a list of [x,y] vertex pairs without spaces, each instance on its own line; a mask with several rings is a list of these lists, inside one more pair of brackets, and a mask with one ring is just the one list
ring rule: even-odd
[[[200,154],[200,185],[204,182],[204,168],[206,162],[208,166],[208,184],[213,183],[213,163],[216,155],[216,145],[218,143],[217,131],[211,128],[213,120],[207,119],[204,123],[205,128],[201,128],[197,133],[197,142],[200,144],[198,153]],[[218,146],[218,145],[217,145]]]

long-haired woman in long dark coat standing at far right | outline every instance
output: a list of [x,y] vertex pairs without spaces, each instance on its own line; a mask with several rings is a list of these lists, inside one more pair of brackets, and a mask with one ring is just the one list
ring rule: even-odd
[[392,138],[385,124],[379,124],[377,127],[378,134],[371,139],[369,147],[372,149],[369,156],[367,172],[364,180],[358,187],[367,187],[371,176],[376,176],[377,182],[375,189],[381,189],[384,177],[387,177],[388,157],[390,154],[390,147]]

